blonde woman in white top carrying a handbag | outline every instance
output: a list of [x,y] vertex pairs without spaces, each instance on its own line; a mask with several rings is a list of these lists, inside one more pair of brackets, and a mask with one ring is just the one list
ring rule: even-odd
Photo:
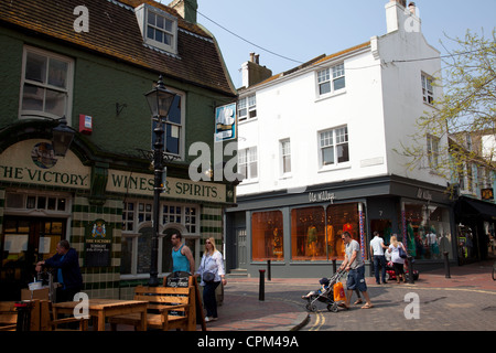
[[215,299],[215,290],[220,281],[226,286],[224,259],[223,255],[215,249],[215,239],[205,240],[205,252],[195,276],[202,276],[200,282],[203,287],[203,302],[206,309],[206,322],[217,320],[217,300]]

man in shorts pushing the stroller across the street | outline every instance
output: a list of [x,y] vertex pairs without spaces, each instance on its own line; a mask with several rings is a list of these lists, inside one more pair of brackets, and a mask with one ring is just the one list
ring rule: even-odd
[[342,235],[343,243],[346,244],[345,259],[339,266],[339,270],[346,269],[348,271],[348,280],[346,282],[347,296],[345,308],[349,309],[349,301],[355,289],[358,289],[365,298],[365,306],[362,309],[374,308],[370,302],[370,298],[367,293],[367,284],[365,282],[365,264],[362,258],[360,245],[357,240],[354,240],[348,232],[344,232]]

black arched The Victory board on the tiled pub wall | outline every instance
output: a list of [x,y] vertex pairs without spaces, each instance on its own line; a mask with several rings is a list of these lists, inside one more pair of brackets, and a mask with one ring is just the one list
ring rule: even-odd
[[96,220],[89,223],[85,231],[85,266],[110,266],[111,249],[111,226],[104,220]]

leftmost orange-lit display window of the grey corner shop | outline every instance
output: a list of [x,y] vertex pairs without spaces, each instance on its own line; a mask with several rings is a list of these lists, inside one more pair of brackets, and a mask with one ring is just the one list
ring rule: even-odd
[[251,254],[254,261],[284,258],[282,212],[256,212],[251,216]]

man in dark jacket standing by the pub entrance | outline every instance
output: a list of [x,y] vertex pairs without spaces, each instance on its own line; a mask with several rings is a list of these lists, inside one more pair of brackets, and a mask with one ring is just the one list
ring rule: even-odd
[[56,293],[57,302],[72,301],[74,296],[83,289],[79,259],[67,240],[61,240],[56,250],[57,254],[51,258],[37,263],[36,270],[41,271],[43,265],[57,269],[57,281],[61,285]]

